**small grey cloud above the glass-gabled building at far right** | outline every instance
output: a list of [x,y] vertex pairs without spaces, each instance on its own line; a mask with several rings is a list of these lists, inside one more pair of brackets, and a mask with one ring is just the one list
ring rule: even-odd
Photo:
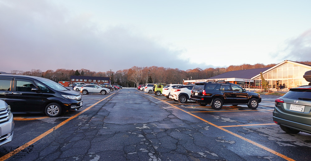
[[311,61],[311,29],[286,42],[283,60]]

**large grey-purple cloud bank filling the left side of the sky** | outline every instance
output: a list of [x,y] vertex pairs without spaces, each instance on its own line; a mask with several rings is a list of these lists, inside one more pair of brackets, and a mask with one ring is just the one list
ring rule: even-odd
[[170,50],[160,45],[160,39],[147,37],[135,27],[103,29],[88,13],[74,15],[47,1],[0,1],[0,15],[2,71],[206,67],[178,59],[184,50]]

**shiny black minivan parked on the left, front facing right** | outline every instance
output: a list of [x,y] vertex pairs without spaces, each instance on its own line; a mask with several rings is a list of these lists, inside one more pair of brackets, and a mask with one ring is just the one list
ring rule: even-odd
[[81,95],[58,83],[37,76],[0,74],[0,99],[12,113],[45,113],[58,117],[82,108]]

